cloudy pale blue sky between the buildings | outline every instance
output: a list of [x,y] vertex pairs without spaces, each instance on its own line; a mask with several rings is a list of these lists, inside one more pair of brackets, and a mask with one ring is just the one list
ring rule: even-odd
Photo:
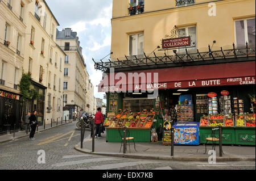
[[[94,96],[103,98],[96,87],[102,78],[101,71],[94,70],[92,57],[100,60],[110,53],[112,0],[46,0],[60,26],[76,31],[81,42],[87,71],[94,85]],[[106,100],[104,100],[106,102]]]

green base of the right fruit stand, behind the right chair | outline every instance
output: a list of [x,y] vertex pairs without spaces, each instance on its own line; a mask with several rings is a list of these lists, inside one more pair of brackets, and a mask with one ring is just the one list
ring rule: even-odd
[[[212,137],[212,128],[213,127],[199,127],[200,133],[200,143],[206,144],[206,138]],[[218,130],[214,131],[215,135],[213,137],[218,138]],[[255,134],[254,134],[255,135]],[[211,144],[208,141],[208,144]],[[216,142],[218,144],[218,141]],[[222,144],[226,145],[235,145],[236,144],[236,133],[234,127],[222,127]]]

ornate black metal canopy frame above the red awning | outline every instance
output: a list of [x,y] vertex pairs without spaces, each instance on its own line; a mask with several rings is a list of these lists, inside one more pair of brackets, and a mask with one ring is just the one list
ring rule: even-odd
[[130,71],[175,66],[255,61],[255,47],[249,48],[247,43],[246,46],[242,48],[236,48],[233,43],[232,49],[223,49],[220,47],[220,50],[212,50],[209,45],[208,50],[204,52],[200,52],[197,49],[195,52],[189,53],[188,48],[185,48],[185,53],[177,53],[177,50],[173,50],[174,54],[168,55],[166,51],[167,50],[164,49],[163,56],[157,56],[155,51],[153,51],[152,54],[154,54],[154,56],[146,56],[146,53],[144,53],[142,56],[125,55],[124,60],[119,60],[118,58],[114,61],[108,59],[108,61],[100,60],[100,62],[96,62],[94,58],[92,58],[92,60],[94,62],[94,68],[104,73],[109,73],[110,68],[114,68],[115,71]]

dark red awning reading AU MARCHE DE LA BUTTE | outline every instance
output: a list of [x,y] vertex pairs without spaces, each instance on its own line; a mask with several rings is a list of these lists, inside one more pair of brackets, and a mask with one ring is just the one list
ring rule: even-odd
[[98,91],[181,89],[254,84],[255,61],[248,61],[109,73],[98,85]]

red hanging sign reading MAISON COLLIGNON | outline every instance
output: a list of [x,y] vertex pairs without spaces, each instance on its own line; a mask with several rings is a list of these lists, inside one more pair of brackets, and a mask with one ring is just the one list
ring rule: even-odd
[[190,46],[190,36],[177,37],[175,39],[164,39],[162,41],[163,48],[188,47]]

